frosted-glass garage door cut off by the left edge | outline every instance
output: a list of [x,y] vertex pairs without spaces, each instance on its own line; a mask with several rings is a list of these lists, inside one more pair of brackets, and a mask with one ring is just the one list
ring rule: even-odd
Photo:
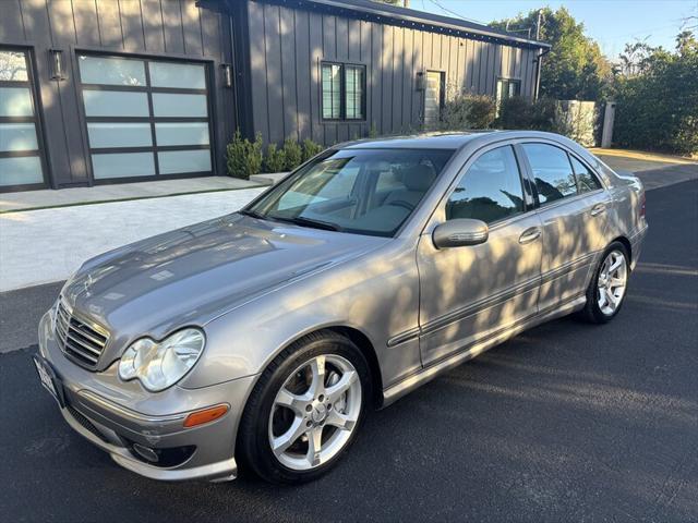
[[0,190],[44,185],[28,54],[0,49]]

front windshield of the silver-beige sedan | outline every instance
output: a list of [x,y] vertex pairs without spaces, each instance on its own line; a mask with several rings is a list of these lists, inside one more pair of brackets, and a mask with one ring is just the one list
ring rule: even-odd
[[397,148],[328,151],[241,212],[303,227],[392,236],[453,153]]

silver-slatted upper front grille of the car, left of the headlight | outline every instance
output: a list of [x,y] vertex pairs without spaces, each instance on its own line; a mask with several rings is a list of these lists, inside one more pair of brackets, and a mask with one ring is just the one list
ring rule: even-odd
[[65,354],[81,365],[94,368],[107,344],[107,333],[70,313],[60,300],[56,312],[56,336]]

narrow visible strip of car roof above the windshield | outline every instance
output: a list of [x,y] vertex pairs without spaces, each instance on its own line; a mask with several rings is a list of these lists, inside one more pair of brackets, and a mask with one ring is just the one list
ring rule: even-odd
[[459,149],[476,137],[498,131],[469,131],[462,133],[423,133],[405,136],[383,136],[337,144],[338,149]]

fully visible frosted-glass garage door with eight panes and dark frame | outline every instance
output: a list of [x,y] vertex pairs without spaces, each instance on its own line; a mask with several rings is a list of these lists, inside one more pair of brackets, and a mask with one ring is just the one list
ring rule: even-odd
[[77,59],[96,181],[212,173],[204,63]]

